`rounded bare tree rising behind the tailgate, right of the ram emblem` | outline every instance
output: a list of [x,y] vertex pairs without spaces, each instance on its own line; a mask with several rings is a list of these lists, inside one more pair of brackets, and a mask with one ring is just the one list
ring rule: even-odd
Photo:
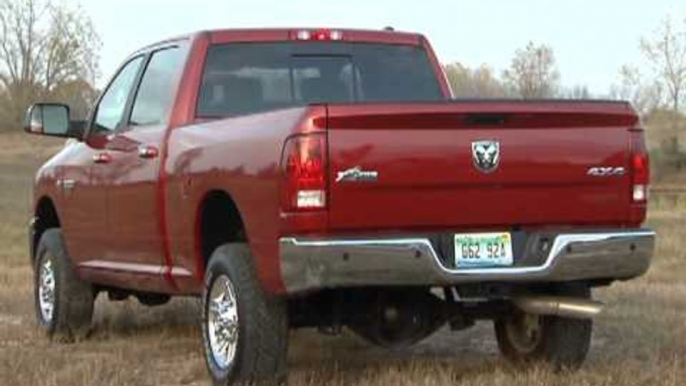
[[503,79],[515,95],[524,99],[555,96],[560,73],[552,48],[529,42],[524,49],[516,51],[510,68],[503,72]]

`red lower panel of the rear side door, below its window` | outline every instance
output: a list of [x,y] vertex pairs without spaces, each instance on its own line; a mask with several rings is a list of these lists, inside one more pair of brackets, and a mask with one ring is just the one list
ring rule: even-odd
[[[141,269],[136,272],[137,287],[155,292],[171,289],[171,283],[160,280],[167,266],[159,221],[160,157],[139,156],[141,147],[159,152],[165,132],[166,126],[161,125],[123,130],[104,138],[96,150],[97,154],[110,159],[108,163],[93,166],[98,188],[106,197],[108,226],[105,234],[108,237],[100,244],[99,255],[82,262],[84,267],[90,267],[91,280],[126,286],[131,279],[122,275],[110,277],[108,268],[138,264]],[[107,277],[99,278],[99,273]]]

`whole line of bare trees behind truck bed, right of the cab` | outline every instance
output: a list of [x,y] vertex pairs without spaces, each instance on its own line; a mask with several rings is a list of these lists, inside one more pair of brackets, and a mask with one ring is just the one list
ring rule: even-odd
[[586,86],[564,87],[552,47],[529,42],[509,66],[444,66],[456,98],[563,98],[628,100],[648,129],[653,175],[671,180],[686,169],[686,19],[666,18],[637,42],[643,63],[625,64],[604,95]]

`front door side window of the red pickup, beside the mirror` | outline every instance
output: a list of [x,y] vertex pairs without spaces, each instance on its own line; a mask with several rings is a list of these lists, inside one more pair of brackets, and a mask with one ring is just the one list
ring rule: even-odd
[[136,80],[143,57],[139,56],[128,62],[112,80],[105,94],[100,99],[93,129],[97,132],[114,131],[122,121],[126,101],[131,93],[131,87]]

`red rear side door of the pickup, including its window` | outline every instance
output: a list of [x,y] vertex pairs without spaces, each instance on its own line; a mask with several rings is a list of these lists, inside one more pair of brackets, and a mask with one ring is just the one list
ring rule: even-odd
[[107,138],[105,160],[97,172],[108,192],[107,268],[120,272],[113,280],[140,290],[163,290],[168,284],[161,280],[166,262],[159,174],[183,58],[178,46],[147,56],[124,119]]

